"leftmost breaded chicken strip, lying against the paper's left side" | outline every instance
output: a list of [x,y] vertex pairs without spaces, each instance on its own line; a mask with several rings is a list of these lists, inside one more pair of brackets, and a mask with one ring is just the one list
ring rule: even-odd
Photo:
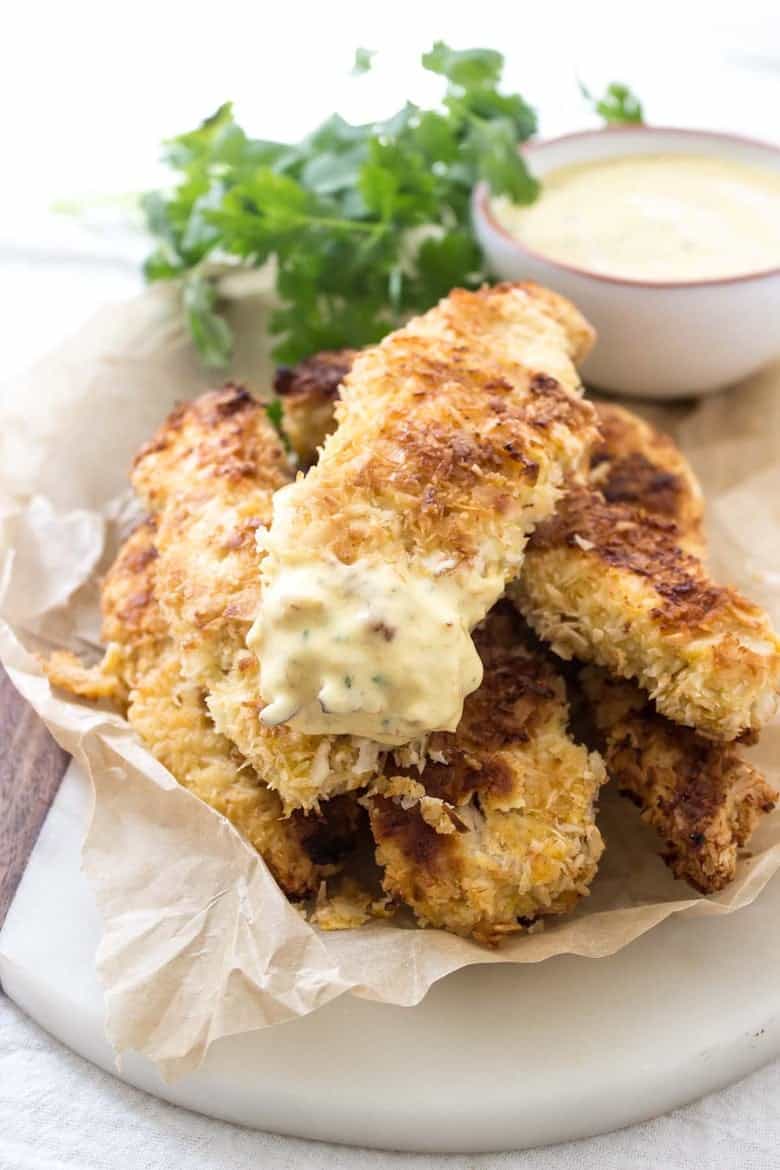
[[152,755],[206,804],[227,817],[265,860],[290,896],[316,893],[354,844],[358,807],[339,799],[326,814],[283,819],[282,804],[236,748],[214,730],[196,683],[182,679],[179,649],[157,603],[156,524],[129,537],[103,585],[103,636],[109,651],[98,668],[58,654],[49,663],[56,686],[81,697],[115,701]]

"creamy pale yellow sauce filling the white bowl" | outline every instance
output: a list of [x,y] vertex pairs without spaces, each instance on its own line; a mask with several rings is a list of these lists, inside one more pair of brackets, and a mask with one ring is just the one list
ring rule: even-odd
[[564,166],[499,223],[552,260],[628,280],[691,281],[780,266],[780,172],[698,154]]

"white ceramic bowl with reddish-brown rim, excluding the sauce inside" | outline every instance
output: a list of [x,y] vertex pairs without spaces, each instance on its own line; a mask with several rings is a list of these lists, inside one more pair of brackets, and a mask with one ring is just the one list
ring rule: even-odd
[[[543,180],[571,163],[649,153],[718,156],[780,171],[780,147],[705,130],[616,126],[525,149]],[[546,284],[582,310],[599,333],[582,369],[591,385],[650,398],[709,394],[780,358],[780,268],[684,282],[605,276],[520,243],[491,215],[489,194],[482,184],[472,199],[489,267],[504,280]]]

